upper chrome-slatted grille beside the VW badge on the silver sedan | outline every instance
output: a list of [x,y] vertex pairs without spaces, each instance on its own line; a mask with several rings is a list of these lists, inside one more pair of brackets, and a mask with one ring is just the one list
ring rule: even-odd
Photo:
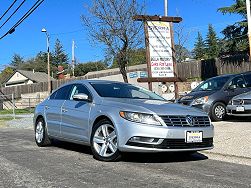
[[160,116],[167,126],[175,127],[208,127],[210,120],[207,116],[192,116],[193,124],[187,122],[186,116]]

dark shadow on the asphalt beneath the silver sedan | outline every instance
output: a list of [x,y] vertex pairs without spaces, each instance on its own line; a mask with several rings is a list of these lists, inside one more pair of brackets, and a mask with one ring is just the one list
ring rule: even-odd
[[[89,146],[73,144],[58,140],[53,140],[53,147],[62,148],[69,151],[75,151],[83,154],[92,155]],[[123,153],[122,162],[132,163],[173,163],[173,162],[188,162],[201,161],[208,159],[207,156],[201,153],[177,152],[177,153]]]

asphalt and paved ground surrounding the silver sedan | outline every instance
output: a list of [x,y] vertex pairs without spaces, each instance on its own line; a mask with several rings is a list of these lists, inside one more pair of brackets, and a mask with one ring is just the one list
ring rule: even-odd
[[211,151],[129,153],[115,163],[76,144],[39,148],[32,126],[15,121],[0,128],[0,187],[251,187],[250,121],[215,123]]

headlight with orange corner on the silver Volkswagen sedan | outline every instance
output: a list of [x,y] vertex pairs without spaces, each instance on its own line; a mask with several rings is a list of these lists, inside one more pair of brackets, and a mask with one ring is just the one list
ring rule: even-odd
[[159,126],[162,125],[160,121],[158,120],[158,116],[155,116],[153,114],[121,111],[119,112],[119,115],[126,120],[137,122],[137,123],[159,125]]

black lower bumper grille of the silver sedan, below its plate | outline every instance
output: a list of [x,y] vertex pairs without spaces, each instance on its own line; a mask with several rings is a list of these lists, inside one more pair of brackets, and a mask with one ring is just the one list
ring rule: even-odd
[[192,148],[206,148],[213,146],[213,138],[203,138],[202,142],[198,143],[186,143],[185,139],[164,139],[159,145],[143,144],[135,142],[127,142],[127,145],[156,148],[156,149],[192,149]]

